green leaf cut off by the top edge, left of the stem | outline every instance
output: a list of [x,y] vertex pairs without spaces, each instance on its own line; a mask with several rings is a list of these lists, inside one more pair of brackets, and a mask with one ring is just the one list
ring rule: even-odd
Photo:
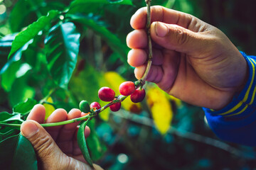
[[93,13],[105,4],[133,5],[131,0],[75,0],[70,4],[68,13]]

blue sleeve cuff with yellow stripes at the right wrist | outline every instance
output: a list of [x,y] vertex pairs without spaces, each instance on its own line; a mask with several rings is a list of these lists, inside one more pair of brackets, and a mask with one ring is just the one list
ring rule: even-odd
[[256,57],[241,52],[249,67],[249,77],[240,94],[220,111],[203,108],[210,128],[222,140],[256,146]]

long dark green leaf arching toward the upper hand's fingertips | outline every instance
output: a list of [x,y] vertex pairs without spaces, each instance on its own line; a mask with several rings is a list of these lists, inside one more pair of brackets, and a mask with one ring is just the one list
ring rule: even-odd
[[107,42],[108,45],[112,48],[114,52],[117,52],[120,56],[120,60],[124,62],[124,64],[128,66],[127,64],[127,53],[129,52],[129,48],[125,44],[125,42],[121,42],[117,35],[114,35],[114,33],[110,32],[110,30],[107,30],[104,26],[100,26],[97,24],[96,21],[94,21],[92,18],[88,18],[86,16],[79,16],[79,15],[67,15],[67,17],[70,17],[71,20],[77,21],[79,23],[82,23],[87,28],[92,29],[100,35],[100,37]]

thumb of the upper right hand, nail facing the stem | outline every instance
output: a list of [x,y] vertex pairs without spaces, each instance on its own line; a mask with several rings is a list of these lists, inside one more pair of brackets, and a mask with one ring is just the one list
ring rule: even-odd
[[154,22],[150,28],[151,38],[157,44],[177,52],[196,52],[205,45],[202,35],[174,24]]

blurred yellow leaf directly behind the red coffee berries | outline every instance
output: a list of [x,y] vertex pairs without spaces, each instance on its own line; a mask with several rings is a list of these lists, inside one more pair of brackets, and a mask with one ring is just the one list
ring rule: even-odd
[[[104,74],[106,81],[110,84],[110,88],[114,90],[116,96],[119,94],[119,85],[124,81],[127,81],[121,77],[117,72],[106,72]],[[122,107],[130,112],[139,113],[142,111],[142,106],[140,103],[133,103],[129,97],[122,101]]]

